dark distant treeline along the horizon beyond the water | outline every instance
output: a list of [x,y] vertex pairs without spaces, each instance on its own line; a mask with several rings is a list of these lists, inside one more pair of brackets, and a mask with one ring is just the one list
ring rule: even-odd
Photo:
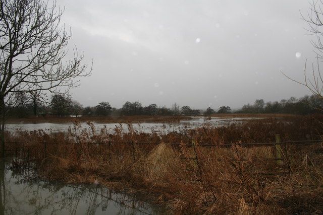
[[27,96],[16,96],[17,102],[13,107],[8,108],[11,117],[27,117],[38,115],[52,116],[122,116],[122,115],[151,115],[151,116],[196,116],[212,115],[216,113],[292,113],[292,114],[311,114],[322,111],[323,99],[312,95],[304,96],[300,99],[291,97],[280,102],[264,102],[257,99],[254,104],[246,104],[241,109],[232,111],[229,106],[221,106],[218,111],[208,107],[206,110],[191,109],[189,106],[182,106],[174,103],[171,108],[166,106],[158,107],[156,104],[143,106],[139,101],[126,102],[122,108],[111,107],[109,102],[100,102],[96,106],[83,107],[78,101],[71,97],[55,94],[50,102],[41,103],[37,99],[29,99]]

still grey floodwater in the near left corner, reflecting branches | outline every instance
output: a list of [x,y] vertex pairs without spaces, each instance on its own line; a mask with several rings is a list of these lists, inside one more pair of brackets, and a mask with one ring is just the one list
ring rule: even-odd
[[100,185],[36,179],[28,168],[0,162],[0,214],[160,214],[161,208]]

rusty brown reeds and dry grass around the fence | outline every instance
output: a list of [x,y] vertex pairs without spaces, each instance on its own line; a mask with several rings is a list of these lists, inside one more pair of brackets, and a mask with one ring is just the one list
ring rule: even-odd
[[[317,139],[321,122],[318,115],[292,121],[270,118],[171,133],[140,133],[131,124],[129,132],[122,126],[114,133],[104,128],[97,132],[89,123],[87,128],[75,124],[67,133],[7,133],[6,140],[13,150],[8,154],[16,149],[21,150],[18,156],[29,154],[41,177],[67,183],[98,180],[116,190],[144,193],[171,213],[320,214],[321,143],[283,146],[283,163],[273,160],[275,147],[243,144],[274,142],[275,134],[283,141]],[[236,145],[221,147],[227,142]]]

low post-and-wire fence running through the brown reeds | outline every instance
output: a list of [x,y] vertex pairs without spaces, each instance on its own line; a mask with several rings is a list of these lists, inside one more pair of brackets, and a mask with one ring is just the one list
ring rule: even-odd
[[[193,150],[193,157],[181,157],[181,160],[193,160],[197,165],[199,164],[199,158],[196,153],[197,148],[232,148],[241,147],[241,148],[255,148],[255,147],[273,147],[274,148],[274,157],[267,158],[267,161],[276,162],[277,166],[280,170],[283,171],[271,171],[271,172],[263,172],[261,174],[287,174],[290,172],[290,164],[289,161],[290,155],[287,151],[288,146],[307,146],[307,145],[321,145],[323,146],[323,140],[287,140],[281,141],[280,135],[275,135],[276,141],[275,142],[247,142],[247,143],[226,143],[226,144],[208,144],[208,143],[199,143],[197,144],[196,141],[192,140],[189,143],[168,143],[167,145],[173,146],[176,148],[180,147],[191,147]],[[121,145],[128,145],[128,148],[131,151],[133,162],[137,161],[136,157],[136,148],[138,146],[158,146],[162,142],[139,142],[139,141],[99,141],[99,142],[49,142],[49,141],[8,141],[6,142],[6,150],[7,152],[15,152],[15,156],[18,157],[18,154],[24,154],[27,160],[30,159],[30,152],[31,150],[38,150],[39,153],[41,147],[43,148],[42,151],[44,153],[44,158],[48,156],[48,147],[57,145],[57,146],[106,146],[108,151],[108,156],[111,158],[111,153],[113,152],[114,148]],[[32,148],[32,147],[37,147]],[[241,159],[243,161],[243,159]]]

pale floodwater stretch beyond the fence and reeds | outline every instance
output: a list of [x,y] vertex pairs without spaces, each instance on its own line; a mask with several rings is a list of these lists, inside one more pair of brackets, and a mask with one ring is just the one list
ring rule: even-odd
[[[183,119],[180,122],[177,123],[161,123],[161,122],[152,122],[152,123],[132,123],[133,128],[138,130],[139,132],[152,132],[155,131],[161,131],[161,132],[171,132],[171,131],[178,131],[180,129],[184,128],[195,128],[200,127],[204,125],[211,125],[211,126],[228,126],[233,123],[242,123],[242,121],[250,120],[250,119],[257,119],[257,118],[251,118],[251,117],[235,117],[235,118],[218,118],[218,117],[211,117],[211,118],[205,118],[205,117],[191,117],[187,119]],[[106,126],[107,132],[113,133],[116,126],[120,126],[120,123],[93,123],[96,130],[99,131],[101,128]],[[128,126],[126,123],[121,123],[124,130],[127,131]],[[15,131],[16,129],[21,130],[51,130],[53,132],[58,131],[67,131],[69,127],[73,127],[73,123],[9,123],[6,125],[7,130],[9,131]],[[81,123],[82,128],[88,128],[88,124],[86,122]]]

